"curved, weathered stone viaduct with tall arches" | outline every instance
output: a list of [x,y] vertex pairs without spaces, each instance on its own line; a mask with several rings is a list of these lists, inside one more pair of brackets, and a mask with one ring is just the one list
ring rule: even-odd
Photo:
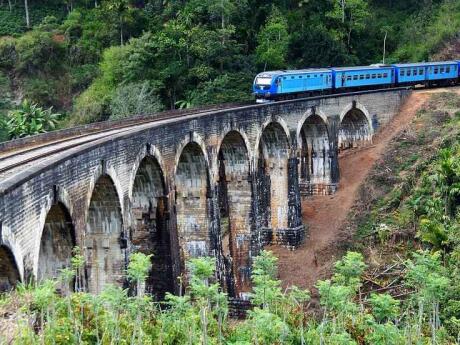
[[[187,258],[203,255],[216,257],[229,295],[245,298],[251,258],[264,245],[295,249],[306,238],[301,193],[333,193],[339,152],[371,143],[408,93],[142,123],[0,173],[0,289],[55,277],[78,245],[90,292],[126,284],[129,254],[141,251],[154,254],[146,287],[159,298],[177,291]],[[47,135],[59,132],[25,143]]]

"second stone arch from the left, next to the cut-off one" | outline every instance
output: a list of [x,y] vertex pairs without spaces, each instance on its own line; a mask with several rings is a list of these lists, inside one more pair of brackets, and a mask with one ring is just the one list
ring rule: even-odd
[[[57,202],[49,209],[40,238],[37,280],[58,278],[60,270],[71,265],[75,230],[67,207]],[[61,286],[69,290],[69,286]]]

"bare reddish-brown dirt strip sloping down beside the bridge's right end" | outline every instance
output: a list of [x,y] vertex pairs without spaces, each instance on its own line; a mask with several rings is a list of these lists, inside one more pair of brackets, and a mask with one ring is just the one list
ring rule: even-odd
[[372,146],[348,152],[339,158],[341,180],[335,195],[314,196],[302,200],[302,217],[309,225],[309,239],[295,251],[278,246],[267,248],[279,258],[279,276],[284,287],[294,284],[311,289],[318,279],[327,275],[331,264],[337,259],[334,257],[333,248],[340,242],[340,229],[354,203],[361,182],[374,162],[382,156],[390,140],[410,124],[417,110],[432,93],[441,91],[455,91],[460,94],[459,88],[412,93],[399,114],[374,136]]

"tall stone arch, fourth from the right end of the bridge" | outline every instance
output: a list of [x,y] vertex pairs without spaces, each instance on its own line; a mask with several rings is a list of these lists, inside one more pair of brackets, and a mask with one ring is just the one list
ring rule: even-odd
[[221,238],[227,270],[231,272],[228,290],[232,296],[245,298],[251,290],[252,188],[248,146],[243,136],[237,131],[228,132],[217,158]]

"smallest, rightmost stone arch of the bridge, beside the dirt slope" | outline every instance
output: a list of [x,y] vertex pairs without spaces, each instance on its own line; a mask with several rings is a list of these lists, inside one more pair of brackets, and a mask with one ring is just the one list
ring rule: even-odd
[[340,150],[368,145],[372,141],[372,133],[369,112],[360,103],[353,102],[340,114]]

